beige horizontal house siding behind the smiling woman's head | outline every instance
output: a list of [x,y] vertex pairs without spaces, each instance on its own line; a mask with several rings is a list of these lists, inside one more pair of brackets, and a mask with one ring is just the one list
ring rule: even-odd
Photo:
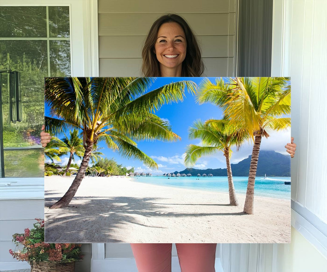
[[236,0],[99,0],[99,74],[140,76],[146,34],[158,17],[170,12],[183,16],[197,34],[205,76],[233,76],[235,10]]

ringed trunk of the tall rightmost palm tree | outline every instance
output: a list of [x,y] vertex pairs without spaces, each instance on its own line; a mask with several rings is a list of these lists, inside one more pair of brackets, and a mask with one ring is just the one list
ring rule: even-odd
[[262,136],[260,132],[258,134],[255,134],[251,162],[250,162],[248,188],[246,191],[246,198],[245,198],[244,209],[243,209],[243,212],[247,214],[253,214],[254,183],[255,183],[255,175],[257,173],[261,138]]

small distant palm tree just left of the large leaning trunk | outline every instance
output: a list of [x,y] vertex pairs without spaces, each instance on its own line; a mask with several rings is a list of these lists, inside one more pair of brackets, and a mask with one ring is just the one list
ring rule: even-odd
[[69,153],[69,159],[66,166],[66,170],[62,175],[65,176],[69,170],[70,164],[72,163],[72,159],[75,161],[74,155],[81,159],[84,155],[85,149],[83,147],[83,140],[78,137],[77,129],[74,129],[73,131],[70,130],[69,138],[65,135],[65,137],[62,138],[61,141],[64,143],[64,146],[61,147],[61,155],[66,155]]

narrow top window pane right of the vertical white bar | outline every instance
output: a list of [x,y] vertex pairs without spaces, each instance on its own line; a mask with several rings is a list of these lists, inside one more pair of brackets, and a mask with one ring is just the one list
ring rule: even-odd
[[49,37],[69,37],[69,7],[49,7]]

